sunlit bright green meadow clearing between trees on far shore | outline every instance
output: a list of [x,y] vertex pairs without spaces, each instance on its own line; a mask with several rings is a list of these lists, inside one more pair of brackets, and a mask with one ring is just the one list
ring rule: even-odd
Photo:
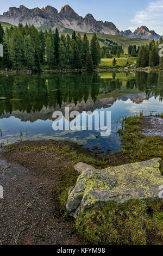
[[[112,59],[101,59],[99,66],[112,66]],[[136,58],[116,58],[116,66],[136,65]]]

